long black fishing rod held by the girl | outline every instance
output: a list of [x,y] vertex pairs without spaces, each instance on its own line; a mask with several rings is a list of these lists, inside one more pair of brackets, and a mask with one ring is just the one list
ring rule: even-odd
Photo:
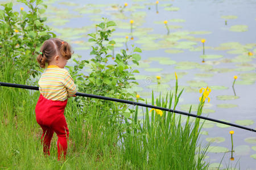
[[[39,90],[39,87],[36,87],[36,86],[27,86],[27,85],[23,85],[23,84],[14,84],[14,83],[3,83],[3,82],[0,82],[0,86],[24,88],[24,89],[28,89],[28,90]],[[143,103],[138,103],[138,102],[129,101],[129,100],[123,100],[123,99],[115,99],[115,98],[112,98],[112,97],[98,96],[98,95],[92,95],[92,94],[84,94],[84,93],[81,93],[81,92],[77,92],[76,96],[91,97],[91,98],[96,98],[96,99],[116,101],[116,102],[119,102],[119,103],[139,105],[139,106],[142,106],[142,107],[154,108],[154,109],[159,109],[159,110],[167,111],[167,112],[174,112],[174,113],[183,114],[183,115],[186,115],[186,116],[201,118],[201,119],[204,119],[204,120],[208,120],[208,121],[212,121],[212,122],[217,122],[217,123],[220,123],[220,124],[225,124],[225,125],[229,125],[229,126],[234,126],[236,128],[240,128],[240,129],[245,129],[245,130],[256,132],[256,130],[254,130],[254,129],[246,128],[244,126],[240,126],[240,125],[236,125],[236,124],[231,124],[229,122],[224,122],[224,121],[216,120],[216,119],[213,119],[213,118],[199,116],[199,115],[196,115],[196,114],[186,113],[186,112],[182,112],[182,111],[175,111],[175,110],[172,110],[172,109],[157,107],[157,106],[154,106],[154,105],[143,104]]]

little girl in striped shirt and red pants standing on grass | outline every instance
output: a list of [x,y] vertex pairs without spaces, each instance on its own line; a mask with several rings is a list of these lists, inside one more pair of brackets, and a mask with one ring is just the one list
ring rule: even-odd
[[68,59],[71,58],[71,46],[60,39],[44,41],[37,60],[40,67],[46,67],[39,79],[40,97],[36,104],[36,121],[43,129],[41,142],[44,154],[49,155],[52,135],[57,134],[58,160],[61,155],[67,154],[67,141],[69,130],[64,116],[67,98],[75,96],[76,85],[64,69]]

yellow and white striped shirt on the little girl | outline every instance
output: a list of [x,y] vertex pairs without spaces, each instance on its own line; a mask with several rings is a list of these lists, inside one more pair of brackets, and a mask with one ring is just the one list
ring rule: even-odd
[[68,70],[58,66],[48,66],[39,79],[39,91],[46,99],[64,101],[76,94],[74,83]]

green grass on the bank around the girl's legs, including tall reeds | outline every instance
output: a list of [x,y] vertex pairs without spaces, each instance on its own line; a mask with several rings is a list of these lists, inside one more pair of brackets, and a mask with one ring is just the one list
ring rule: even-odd
[[[20,75],[5,73],[2,82],[29,84]],[[17,80],[19,80],[17,82]],[[36,85],[36,84],[31,84]],[[182,91],[181,91],[182,92]],[[38,91],[0,87],[0,168],[1,169],[207,169],[204,162],[208,146],[200,147],[199,121],[181,123],[180,116],[163,116],[144,109],[138,118],[138,106],[129,119],[109,103],[96,106],[97,99],[86,99],[77,106],[68,100],[65,117],[70,137],[67,160],[57,162],[56,134],[51,142],[51,156],[43,154],[42,129],[35,119]],[[176,91],[152,104],[175,109],[180,94]],[[201,106],[203,107],[203,105]],[[199,108],[200,114],[201,108]]]

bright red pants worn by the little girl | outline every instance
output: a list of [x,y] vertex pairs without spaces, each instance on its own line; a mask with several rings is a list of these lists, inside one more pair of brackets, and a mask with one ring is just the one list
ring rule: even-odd
[[69,130],[64,116],[64,109],[66,105],[67,100],[48,100],[40,94],[35,108],[36,121],[43,129],[41,142],[43,143],[44,154],[49,155],[52,135],[55,132],[58,137],[58,160],[60,160],[62,154],[64,155],[65,159],[68,149],[67,141]]

